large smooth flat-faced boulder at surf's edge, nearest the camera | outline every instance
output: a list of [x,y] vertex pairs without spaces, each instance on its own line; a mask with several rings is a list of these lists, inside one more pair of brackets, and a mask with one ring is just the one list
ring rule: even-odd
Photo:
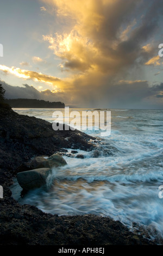
[[41,187],[46,184],[47,176],[51,173],[50,168],[39,168],[34,170],[26,170],[17,173],[17,181],[24,190]]

